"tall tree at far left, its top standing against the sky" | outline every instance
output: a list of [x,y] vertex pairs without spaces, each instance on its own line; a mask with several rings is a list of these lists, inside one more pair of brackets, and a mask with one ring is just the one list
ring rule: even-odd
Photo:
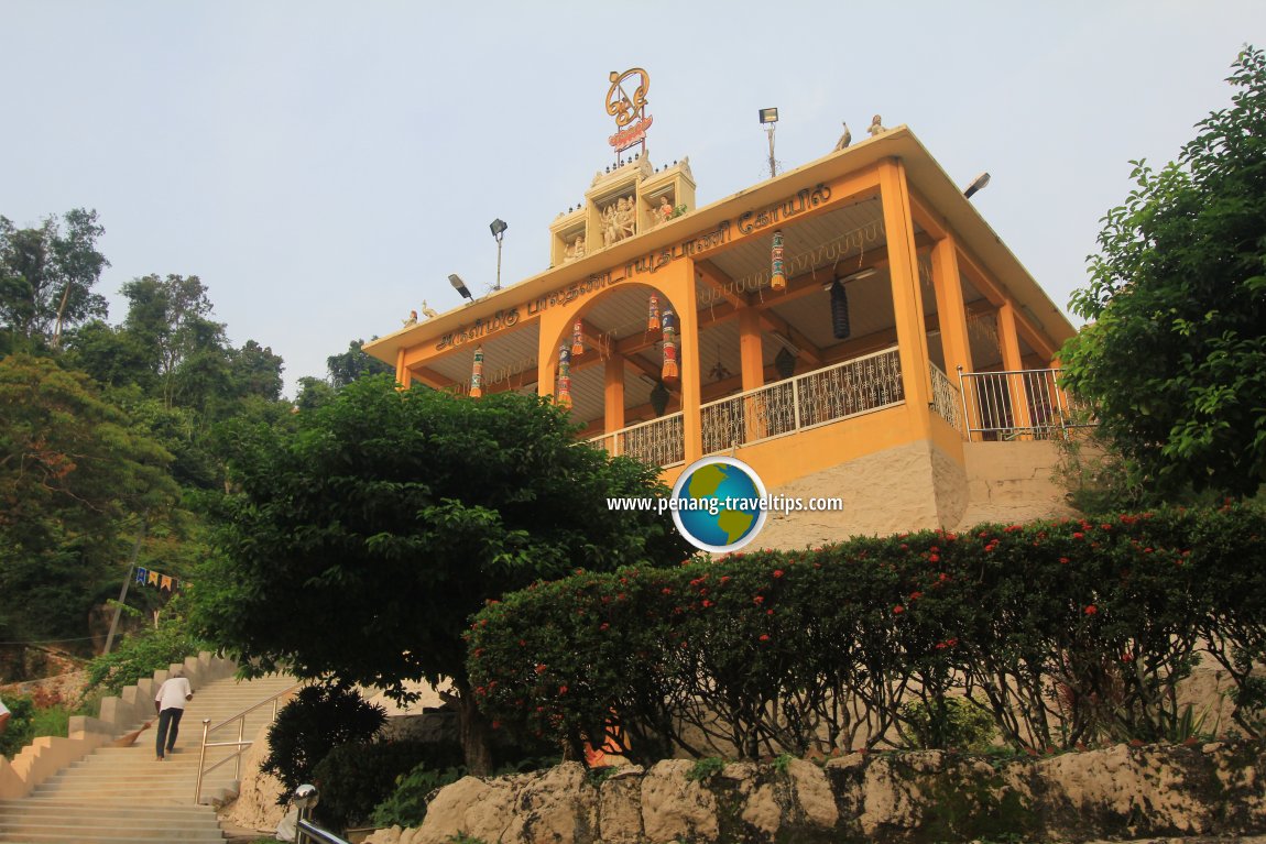
[[105,314],[92,292],[110,266],[96,249],[96,211],[75,209],[19,229],[0,216],[0,353],[57,345],[61,333]]

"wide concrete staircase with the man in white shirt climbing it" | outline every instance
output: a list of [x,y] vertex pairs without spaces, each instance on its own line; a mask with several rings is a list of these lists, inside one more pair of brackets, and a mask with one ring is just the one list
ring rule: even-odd
[[[154,759],[153,726],[128,748],[103,747],[35,786],[30,796],[0,800],[0,841],[65,841],[89,844],[162,844],[165,841],[223,841],[209,805],[194,805],[203,719],[211,726],[295,685],[292,677],[270,676],[249,682],[216,680],[194,690],[180,723],[176,749],[165,762]],[[246,716],[243,738],[249,742],[272,719],[272,705]],[[137,724],[135,726],[141,726]],[[133,729],[135,729],[135,726]],[[237,742],[237,725],[210,742]],[[208,766],[230,755],[232,748],[211,748]],[[235,767],[227,762],[203,779],[203,801],[235,792]]]

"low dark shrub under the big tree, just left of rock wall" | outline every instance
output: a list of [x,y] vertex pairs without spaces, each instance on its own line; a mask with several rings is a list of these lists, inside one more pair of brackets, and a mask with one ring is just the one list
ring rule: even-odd
[[320,790],[316,817],[330,829],[346,830],[367,821],[375,807],[396,788],[396,781],[419,767],[444,768],[462,762],[458,744],[373,742],[341,744],[313,769]]

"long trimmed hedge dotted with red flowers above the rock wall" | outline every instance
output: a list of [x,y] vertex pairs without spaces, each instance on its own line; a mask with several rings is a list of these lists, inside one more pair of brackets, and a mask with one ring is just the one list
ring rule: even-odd
[[468,669],[499,729],[576,758],[951,747],[963,695],[1020,749],[1160,740],[1200,649],[1257,733],[1263,538],[1228,506],[579,571],[475,616]]

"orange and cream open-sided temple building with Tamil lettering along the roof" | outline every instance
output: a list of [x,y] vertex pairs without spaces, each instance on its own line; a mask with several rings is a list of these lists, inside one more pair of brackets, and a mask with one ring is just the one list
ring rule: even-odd
[[365,349],[404,386],[552,395],[668,483],[722,453],[844,499],[758,544],[1058,510],[1074,328],[908,128],[704,208],[642,154],[548,233],[547,271]]

